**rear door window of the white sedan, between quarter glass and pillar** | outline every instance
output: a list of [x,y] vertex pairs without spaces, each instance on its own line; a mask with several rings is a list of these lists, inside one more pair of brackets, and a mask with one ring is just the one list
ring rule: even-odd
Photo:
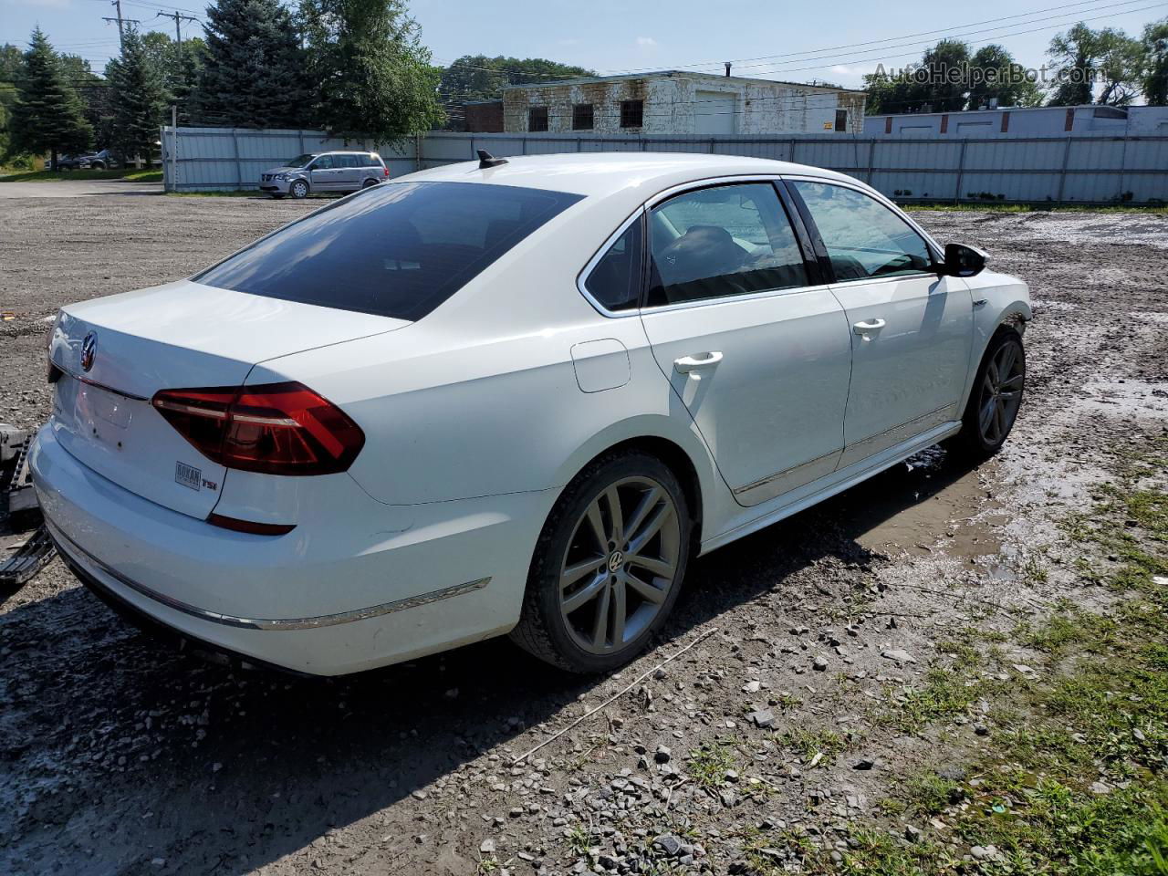
[[648,304],[807,285],[802,252],[769,182],[687,192],[653,208]]

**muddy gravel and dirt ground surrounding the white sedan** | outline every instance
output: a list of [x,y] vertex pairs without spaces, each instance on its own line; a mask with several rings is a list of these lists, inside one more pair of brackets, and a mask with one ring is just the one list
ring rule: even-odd
[[[47,417],[57,306],[190,273],[311,207],[0,201],[0,311],[14,313],[0,420]],[[155,646],[54,561],[0,595],[0,871],[1087,871],[1068,842],[1047,851],[969,819],[1037,823],[1034,794],[1063,776],[1017,739],[1049,717],[1034,697],[1104,633],[1056,651],[1038,634],[1051,613],[1110,618],[1124,588],[1168,585],[1152,576],[1164,506],[1129,502],[1107,542],[1098,493],[1163,495],[1168,217],[917,216],[1031,284],[1027,402],[994,461],[967,471],[930,451],[703,557],[656,647],[600,679],[506,641],[353,680],[232,673]],[[1152,559],[1117,589],[1135,543]],[[1108,627],[1091,653],[1143,647],[1148,628]],[[1119,684],[1093,711],[1146,715]],[[1058,712],[1063,749],[1093,744],[1090,711]],[[1066,767],[1064,809],[1152,787],[1168,764],[1156,721],[1108,729],[1138,744]],[[982,800],[987,758],[1031,778]],[[926,808],[918,785],[939,799]]]

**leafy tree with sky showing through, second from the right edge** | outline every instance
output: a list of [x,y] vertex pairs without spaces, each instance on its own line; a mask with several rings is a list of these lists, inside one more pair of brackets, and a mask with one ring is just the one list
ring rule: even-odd
[[[1050,41],[1056,85],[1051,106],[1127,106],[1139,95],[1143,46],[1122,30],[1092,30],[1082,21]],[[1101,84],[1098,99],[1096,85]]]

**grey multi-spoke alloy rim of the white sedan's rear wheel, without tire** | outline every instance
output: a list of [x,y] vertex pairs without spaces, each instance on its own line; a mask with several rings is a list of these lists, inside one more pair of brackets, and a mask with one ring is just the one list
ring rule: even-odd
[[681,547],[676,505],[652,478],[596,495],[559,568],[559,611],[576,645],[609,654],[635,641],[676,585]]

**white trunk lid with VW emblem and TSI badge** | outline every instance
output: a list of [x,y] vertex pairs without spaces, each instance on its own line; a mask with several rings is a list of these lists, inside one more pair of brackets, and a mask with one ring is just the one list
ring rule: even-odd
[[[51,427],[98,474],[172,510],[206,517],[227,470],[153,409],[157,391],[237,387],[257,362],[406,325],[189,280],[70,305],[49,342],[49,357],[64,373]],[[83,356],[86,338],[91,359]]]

